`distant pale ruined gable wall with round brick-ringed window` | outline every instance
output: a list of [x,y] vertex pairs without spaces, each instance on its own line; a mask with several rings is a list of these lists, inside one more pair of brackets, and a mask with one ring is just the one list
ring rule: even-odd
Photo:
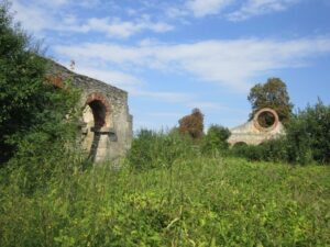
[[[270,127],[263,127],[258,123],[258,116],[264,112],[268,112],[274,115],[274,124]],[[230,130],[230,132],[231,136],[229,137],[228,142],[231,145],[258,145],[267,139],[277,138],[282,135],[285,135],[285,128],[279,122],[277,113],[268,108],[260,110],[252,121],[237,126]]]

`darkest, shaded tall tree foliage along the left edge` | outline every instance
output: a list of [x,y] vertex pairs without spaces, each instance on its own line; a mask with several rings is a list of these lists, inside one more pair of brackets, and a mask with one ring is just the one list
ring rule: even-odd
[[0,149],[3,162],[12,157],[16,144],[8,141],[23,136],[38,120],[43,109],[45,66],[29,37],[13,27],[8,7],[0,5]]

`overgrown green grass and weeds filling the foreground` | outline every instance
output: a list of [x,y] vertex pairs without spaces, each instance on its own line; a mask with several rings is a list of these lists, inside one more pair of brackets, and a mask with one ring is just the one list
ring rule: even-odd
[[330,246],[330,167],[197,158],[0,189],[0,246]]

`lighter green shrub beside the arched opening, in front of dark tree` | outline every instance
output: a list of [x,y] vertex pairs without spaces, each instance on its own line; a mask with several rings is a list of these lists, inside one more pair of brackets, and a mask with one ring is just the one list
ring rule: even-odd
[[[24,133],[8,138],[16,146],[14,156],[7,162],[7,168],[16,173],[25,192],[33,192],[52,178],[58,166],[67,166],[70,156],[80,154],[77,145],[77,109],[79,93],[74,89],[53,89],[48,92],[52,105],[35,115],[40,123]],[[47,92],[46,92],[47,93]],[[70,113],[67,115],[67,113]]]

